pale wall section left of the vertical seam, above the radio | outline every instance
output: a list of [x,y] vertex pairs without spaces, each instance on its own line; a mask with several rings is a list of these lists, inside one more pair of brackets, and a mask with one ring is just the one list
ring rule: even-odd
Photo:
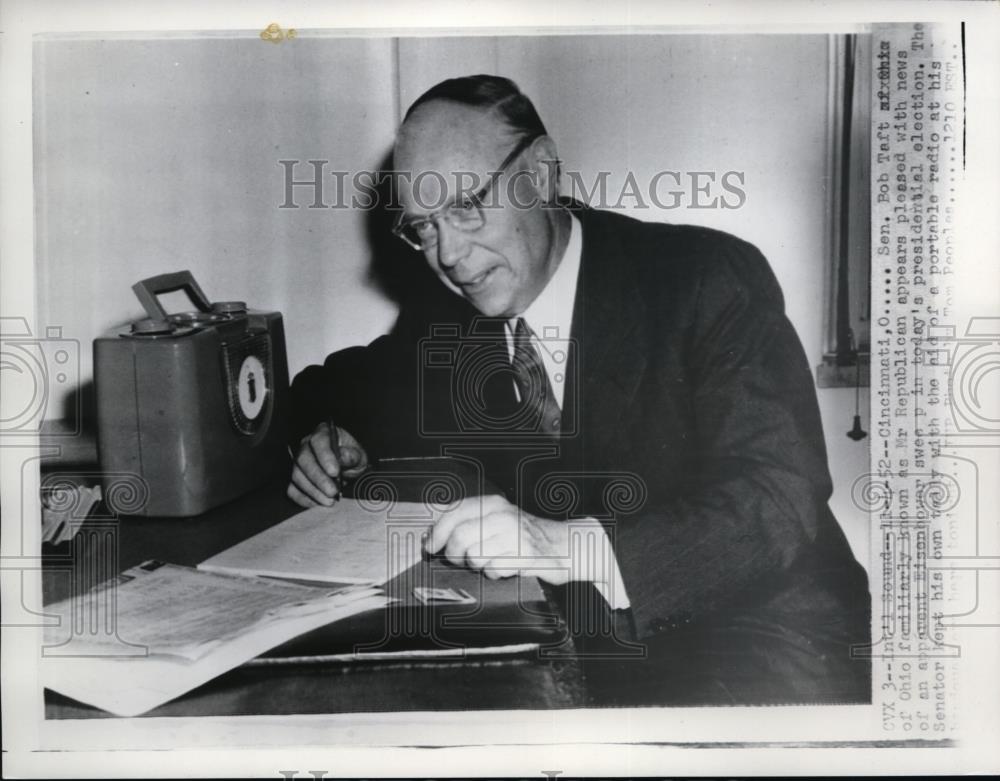
[[[369,278],[365,223],[348,210],[279,209],[277,161],[377,167],[396,127],[393,48],[388,39],[37,44],[40,317],[87,342],[141,314],[134,282],[187,268],[209,298],[282,311],[293,369],[390,327],[394,308]],[[86,343],[83,353],[87,377]]]

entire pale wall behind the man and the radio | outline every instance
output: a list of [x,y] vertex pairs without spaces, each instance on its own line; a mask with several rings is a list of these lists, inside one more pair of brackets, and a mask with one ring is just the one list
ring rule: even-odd
[[[395,309],[370,273],[365,215],[279,209],[277,161],[375,169],[400,106],[442,78],[492,71],[532,96],[565,169],[588,183],[610,172],[609,205],[629,171],[641,187],[657,171],[681,173],[678,208],[619,205],[756,244],[816,363],[829,252],[829,63],[825,36],[40,42],[40,316],[84,342],[84,377],[89,340],[139,314],[131,284],[180,268],[210,298],[281,310],[293,372],[374,338]],[[687,172],[726,171],[744,175],[741,208],[693,208]],[[707,200],[719,195],[716,185]],[[867,561],[867,518],[850,501],[867,471],[866,442],[844,436],[854,394],[819,396],[834,510]]]

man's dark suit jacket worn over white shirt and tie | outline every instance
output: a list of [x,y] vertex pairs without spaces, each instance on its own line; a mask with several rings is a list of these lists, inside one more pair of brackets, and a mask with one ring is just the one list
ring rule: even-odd
[[[294,436],[332,414],[376,455],[451,448],[526,509],[600,518],[640,639],[741,607],[860,615],[867,579],[827,508],[812,375],[764,257],[717,231],[575,208],[583,259],[557,448],[470,416],[504,408],[510,375],[483,367],[506,347],[436,280],[392,334],[297,377]],[[434,324],[458,335],[429,338]]]

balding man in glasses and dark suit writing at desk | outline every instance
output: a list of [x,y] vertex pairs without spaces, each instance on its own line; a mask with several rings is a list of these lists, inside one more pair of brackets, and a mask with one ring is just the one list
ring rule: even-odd
[[648,701],[867,700],[867,579],[767,262],[563,201],[557,160],[507,79],[411,106],[394,232],[440,284],[296,379],[289,495],[329,504],[376,455],[462,453],[503,495],[461,502],[428,550],[590,584],[641,644],[620,671]]

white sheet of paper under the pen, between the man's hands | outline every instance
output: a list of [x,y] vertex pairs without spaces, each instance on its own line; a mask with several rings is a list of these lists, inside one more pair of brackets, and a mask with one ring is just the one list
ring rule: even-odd
[[420,561],[422,535],[440,513],[354,499],[313,507],[203,561],[199,569],[328,583],[381,585]]

